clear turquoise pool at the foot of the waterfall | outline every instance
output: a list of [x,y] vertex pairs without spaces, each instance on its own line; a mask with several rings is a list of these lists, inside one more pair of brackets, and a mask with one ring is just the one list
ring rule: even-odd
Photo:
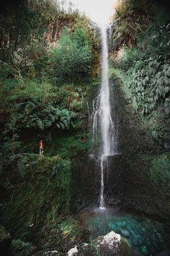
[[145,216],[112,208],[105,208],[104,211],[94,208],[82,210],[79,217],[90,230],[91,239],[114,231],[128,240],[136,256],[143,255],[144,250],[144,255],[156,255],[168,249],[170,234],[165,231],[164,225]]

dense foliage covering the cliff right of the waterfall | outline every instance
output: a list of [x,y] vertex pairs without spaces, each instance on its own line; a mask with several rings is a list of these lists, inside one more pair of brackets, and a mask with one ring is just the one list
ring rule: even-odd
[[117,8],[112,29],[111,74],[124,81],[143,130],[163,147],[170,139],[169,9],[127,0]]

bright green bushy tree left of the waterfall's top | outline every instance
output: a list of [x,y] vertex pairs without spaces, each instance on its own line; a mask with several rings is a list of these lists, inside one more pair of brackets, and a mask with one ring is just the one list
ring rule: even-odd
[[63,30],[58,46],[52,52],[53,76],[56,82],[86,80],[91,73],[91,47],[86,30],[74,33]]

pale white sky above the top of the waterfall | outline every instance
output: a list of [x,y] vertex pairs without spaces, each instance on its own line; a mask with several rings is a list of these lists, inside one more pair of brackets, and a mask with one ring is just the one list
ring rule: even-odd
[[99,24],[109,22],[109,17],[115,12],[117,0],[71,0],[81,12]]

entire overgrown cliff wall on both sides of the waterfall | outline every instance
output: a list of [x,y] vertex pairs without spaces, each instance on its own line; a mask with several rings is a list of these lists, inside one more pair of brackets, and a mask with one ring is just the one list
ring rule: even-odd
[[[55,247],[64,255],[88,240],[79,220],[67,216],[99,205],[101,161],[88,155],[99,31],[77,13],[55,12],[52,2],[29,3],[22,22],[16,19],[21,6],[11,9],[12,17],[5,11],[0,17],[6,17],[0,38],[1,222],[13,238],[29,241],[12,242],[16,255]],[[35,17],[39,24],[30,22]],[[128,0],[117,7],[109,85],[119,155],[109,157],[104,170],[110,207],[154,215],[167,225],[169,27],[167,11],[153,2]],[[40,139],[45,155],[37,154]]]

